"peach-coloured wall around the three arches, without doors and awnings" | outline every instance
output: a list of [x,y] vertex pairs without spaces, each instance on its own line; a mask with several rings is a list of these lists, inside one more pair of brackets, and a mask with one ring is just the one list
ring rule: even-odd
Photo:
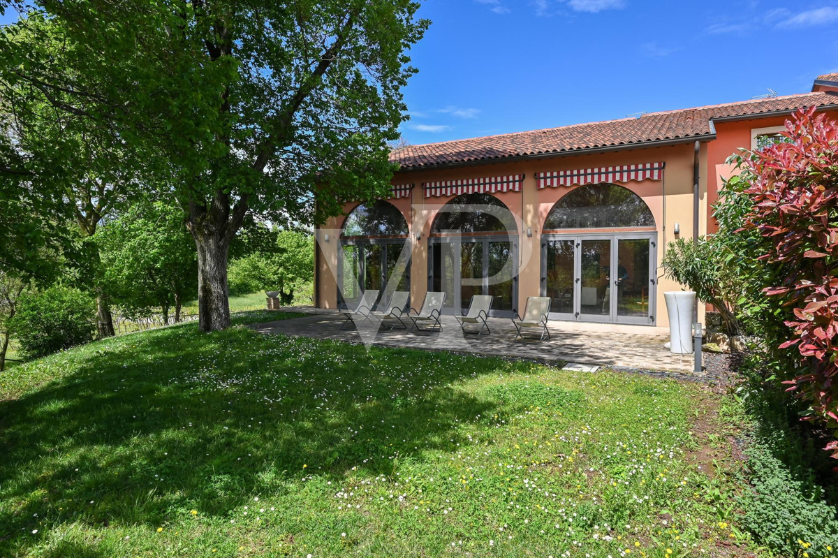
[[[701,147],[701,167],[706,168],[706,145]],[[572,157],[558,157],[539,161],[521,161],[517,163],[484,164],[467,168],[442,169],[410,173],[398,173],[393,183],[415,183],[412,199],[393,199],[391,202],[401,209],[411,229],[413,253],[411,261],[411,305],[417,307],[422,303],[427,291],[427,237],[431,229],[432,220],[437,209],[453,196],[439,198],[424,198],[422,183],[437,180],[456,180],[461,178],[483,178],[490,176],[525,174],[521,192],[505,192],[495,194],[504,202],[510,211],[520,220],[519,230],[519,285],[518,309],[523,309],[526,297],[538,296],[541,287],[541,228],[553,204],[562,195],[573,188],[537,189],[535,173],[558,171],[574,168],[605,167],[634,163],[666,163],[665,180],[645,180],[643,182],[629,182],[622,185],[638,194],[649,205],[655,220],[657,231],[656,264],[659,266],[659,282],[655,301],[656,322],[658,327],[669,325],[666,317],[663,293],[670,290],[681,290],[680,285],[666,280],[660,271],[660,261],[663,258],[665,242],[675,239],[671,232],[675,222],[680,224],[680,237],[692,236],[692,172],[693,172],[693,144],[682,144],[670,147],[651,147],[633,149],[630,151],[609,152],[596,155],[579,155]],[[701,177],[701,234],[706,227],[706,175]],[[666,191],[664,203],[664,189]],[[412,211],[411,211],[412,203]],[[346,209],[354,208],[355,204],[347,204]],[[664,218],[665,213],[665,218]],[[339,247],[339,229],[343,225],[344,217],[328,221],[324,228],[332,230],[332,240],[325,246],[323,252],[319,282],[320,301],[324,307],[335,307],[337,303],[337,285],[334,277],[328,272],[325,260],[332,262],[334,269],[337,265],[337,251]],[[526,235],[527,229],[532,230],[532,236]],[[416,231],[422,230],[422,238],[416,242]],[[337,231],[337,235],[335,235]],[[323,231],[320,231],[321,233]],[[701,311],[703,320],[703,309]]]

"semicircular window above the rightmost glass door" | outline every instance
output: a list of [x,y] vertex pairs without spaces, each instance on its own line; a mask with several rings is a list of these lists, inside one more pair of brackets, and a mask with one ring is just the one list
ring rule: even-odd
[[649,206],[628,188],[591,184],[564,195],[551,209],[545,230],[654,227]]

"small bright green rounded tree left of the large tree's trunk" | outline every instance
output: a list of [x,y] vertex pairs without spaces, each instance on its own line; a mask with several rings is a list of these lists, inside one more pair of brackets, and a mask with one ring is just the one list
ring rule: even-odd
[[164,323],[173,308],[180,321],[198,282],[194,242],[183,221],[175,205],[143,199],[100,227],[94,240],[111,299],[135,311],[159,307]]

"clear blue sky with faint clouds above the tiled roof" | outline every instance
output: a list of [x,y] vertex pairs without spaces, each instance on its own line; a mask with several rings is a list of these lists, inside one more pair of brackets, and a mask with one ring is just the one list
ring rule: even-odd
[[838,0],[422,4],[433,23],[401,128],[414,144],[789,95],[838,71]]

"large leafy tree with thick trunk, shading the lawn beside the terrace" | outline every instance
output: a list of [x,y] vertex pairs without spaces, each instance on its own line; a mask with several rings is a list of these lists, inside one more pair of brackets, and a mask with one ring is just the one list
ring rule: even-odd
[[[68,57],[65,73],[93,73],[96,95],[61,87],[62,108],[94,99],[101,110],[85,114],[128,144],[153,146],[172,173],[160,183],[173,189],[197,247],[201,330],[230,323],[228,250],[248,212],[312,223],[339,213],[344,199],[389,189],[387,142],[405,119],[401,89],[415,71],[405,51],[428,25],[414,18],[418,3],[37,4],[91,54]],[[32,80],[53,94],[49,77]]]

